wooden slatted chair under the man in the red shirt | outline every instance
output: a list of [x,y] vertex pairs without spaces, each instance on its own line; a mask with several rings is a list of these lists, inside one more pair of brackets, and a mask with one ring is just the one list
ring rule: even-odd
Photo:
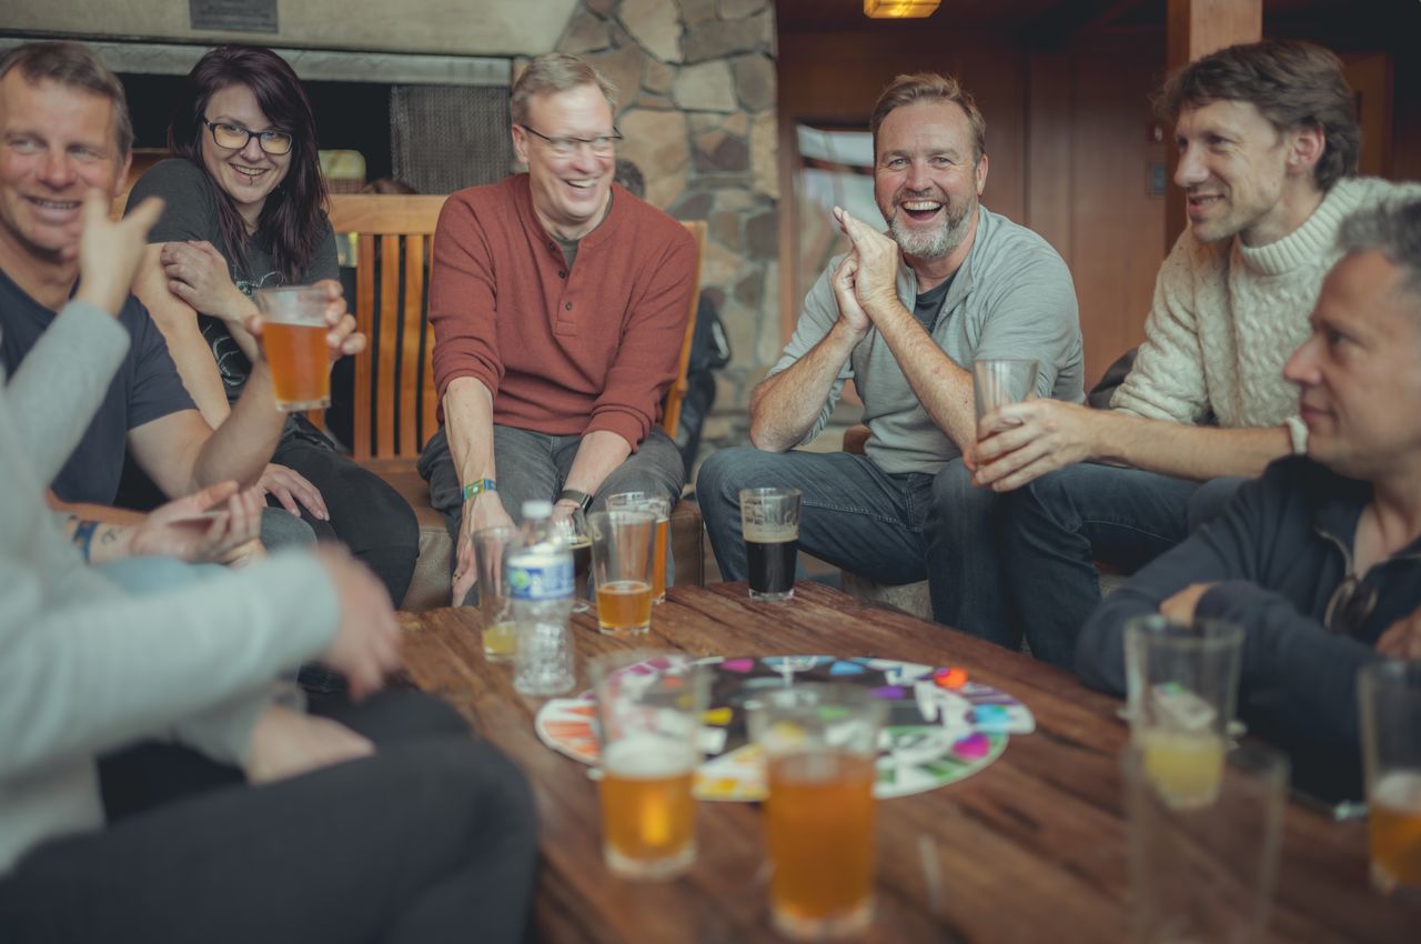
[[[352,458],[391,483],[419,520],[419,560],[401,608],[426,610],[449,603],[449,556],[453,550],[443,516],[429,505],[429,488],[415,471],[419,451],[439,428],[433,384],[433,331],[429,327],[429,266],[443,196],[331,196],[331,226],[355,233],[355,323],[368,338],[355,361]],[[685,223],[696,240],[696,286],[681,343],[678,375],[666,391],[662,427],[675,436],[695,331],[701,256],[706,225]],[[702,519],[691,502],[671,512],[676,583],[705,583]]]

